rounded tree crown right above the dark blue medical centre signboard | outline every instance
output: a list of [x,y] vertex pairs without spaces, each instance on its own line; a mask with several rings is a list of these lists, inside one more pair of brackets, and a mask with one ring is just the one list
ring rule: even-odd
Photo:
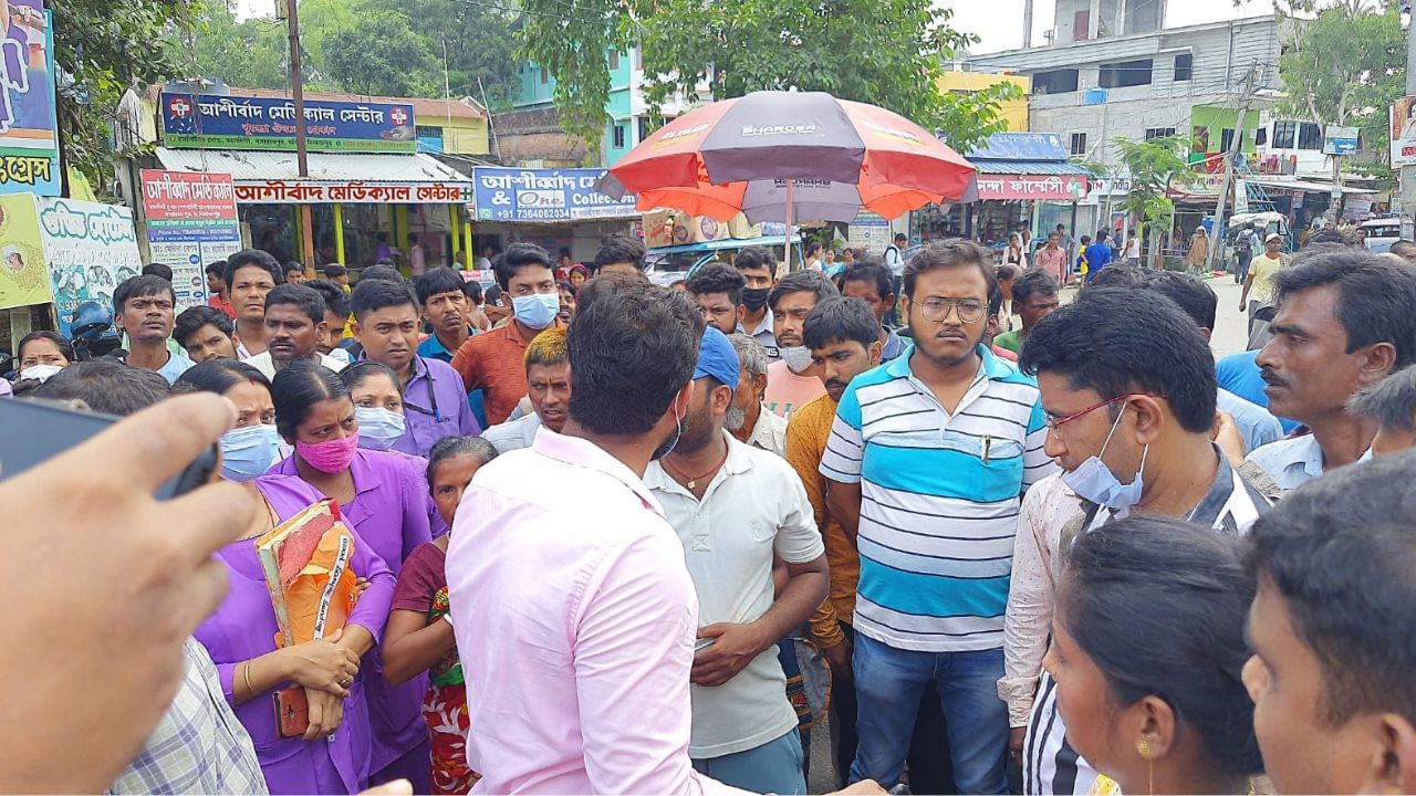
[[442,81],[428,40],[401,11],[360,10],[317,34],[329,82],[354,93],[440,96]]

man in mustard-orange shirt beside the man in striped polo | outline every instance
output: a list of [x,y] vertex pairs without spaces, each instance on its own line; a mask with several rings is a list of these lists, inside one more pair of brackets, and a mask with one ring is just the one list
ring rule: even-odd
[[811,615],[811,640],[833,673],[831,742],[840,776],[855,759],[855,688],[851,683],[851,618],[861,559],[826,506],[821,453],[835,421],[835,402],[855,375],[881,364],[879,320],[862,299],[830,297],[807,316],[803,339],[826,394],[799,408],[787,425],[787,462],[796,469],[826,540],[831,591]]

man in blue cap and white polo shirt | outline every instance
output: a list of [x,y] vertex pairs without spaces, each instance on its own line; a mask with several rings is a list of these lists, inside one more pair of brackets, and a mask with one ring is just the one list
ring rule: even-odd
[[[707,327],[683,433],[644,473],[684,544],[698,595],[688,756],[735,788],[806,793],[776,642],[826,598],[826,547],[792,466],[724,431],[738,375],[732,343]],[[776,599],[773,554],[787,567]]]

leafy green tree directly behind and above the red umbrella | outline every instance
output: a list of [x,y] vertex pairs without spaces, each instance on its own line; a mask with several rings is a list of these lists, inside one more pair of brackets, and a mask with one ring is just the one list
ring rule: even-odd
[[949,27],[932,0],[525,0],[521,52],[555,78],[566,132],[599,140],[610,91],[609,48],[641,47],[651,115],[670,98],[759,89],[826,91],[943,132],[959,150],[1004,129],[1000,84],[939,89],[940,64],[977,38]]

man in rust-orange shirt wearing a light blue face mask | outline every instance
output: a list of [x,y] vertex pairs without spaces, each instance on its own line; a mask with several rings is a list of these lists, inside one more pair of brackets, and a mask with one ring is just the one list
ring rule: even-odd
[[527,394],[527,344],[541,330],[562,326],[551,252],[535,244],[511,244],[493,268],[497,286],[511,297],[511,320],[467,339],[452,358],[467,392],[483,391],[489,425],[506,422]]

